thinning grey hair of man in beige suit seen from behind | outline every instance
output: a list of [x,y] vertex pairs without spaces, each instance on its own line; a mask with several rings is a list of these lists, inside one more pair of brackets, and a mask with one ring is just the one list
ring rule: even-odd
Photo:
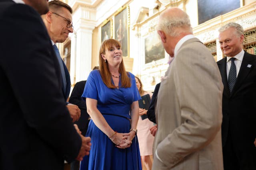
[[191,32],[192,27],[190,25],[190,19],[186,12],[182,11],[181,15],[167,16],[166,11],[160,16],[157,29],[164,31],[172,37],[177,37],[182,32]]

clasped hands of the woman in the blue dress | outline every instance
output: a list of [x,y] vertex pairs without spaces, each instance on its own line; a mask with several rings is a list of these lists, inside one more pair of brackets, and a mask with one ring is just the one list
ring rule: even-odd
[[130,131],[129,133],[116,133],[116,137],[112,139],[112,142],[116,144],[116,147],[125,149],[131,146],[134,136],[134,131]]

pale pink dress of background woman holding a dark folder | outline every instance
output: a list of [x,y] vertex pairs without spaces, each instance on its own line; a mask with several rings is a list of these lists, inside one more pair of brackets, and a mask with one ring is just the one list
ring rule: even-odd
[[[151,92],[145,92],[143,95],[149,94],[152,97]],[[150,133],[150,128],[154,126],[154,123],[148,118],[142,120],[139,116],[137,125],[137,137],[140,147],[140,156],[152,155],[152,147],[154,142],[154,137]]]

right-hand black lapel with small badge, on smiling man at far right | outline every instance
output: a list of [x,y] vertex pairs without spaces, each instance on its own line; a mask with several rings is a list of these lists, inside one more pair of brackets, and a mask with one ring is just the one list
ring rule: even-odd
[[[252,67],[254,67],[253,62],[254,58],[250,57],[248,53],[244,53],[244,58],[236,79],[236,84],[234,86],[234,93],[236,92],[236,90],[241,86],[242,82],[244,81],[244,79],[247,77],[247,75],[249,74],[249,72],[252,70]],[[233,94],[234,94],[233,93]]]

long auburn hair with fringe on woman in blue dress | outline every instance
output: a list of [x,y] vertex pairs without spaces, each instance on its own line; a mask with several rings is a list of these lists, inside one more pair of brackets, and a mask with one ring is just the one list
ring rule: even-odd
[[[108,68],[108,62],[105,62],[104,59],[101,57],[101,55],[102,54],[105,55],[106,50],[110,50],[111,47],[121,48],[121,44],[119,41],[115,39],[107,39],[101,44],[100,53],[99,53],[99,61],[100,61],[99,70],[100,70],[100,75],[104,84],[106,84],[108,88],[116,88],[116,86],[111,82],[112,75]],[[121,74],[121,87],[124,87],[124,88],[131,87],[130,74],[126,72],[124,68],[123,60],[119,65],[119,72]]]

